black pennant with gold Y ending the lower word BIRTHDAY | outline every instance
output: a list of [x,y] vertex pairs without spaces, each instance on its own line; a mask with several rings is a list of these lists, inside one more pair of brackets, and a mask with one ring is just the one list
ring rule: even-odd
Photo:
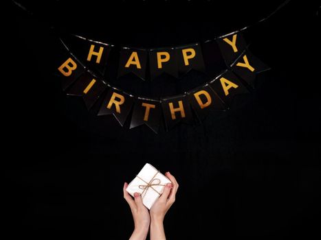
[[245,82],[255,87],[256,74],[269,70],[266,64],[258,60],[250,51],[244,51],[239,58],[233,62],[232,71],[239,75]]

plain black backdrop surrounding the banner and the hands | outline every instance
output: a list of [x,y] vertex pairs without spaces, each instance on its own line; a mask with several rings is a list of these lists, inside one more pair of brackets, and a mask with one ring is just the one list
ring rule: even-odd
[[[12,237],[128,238],[133,221],[122,186],[146,162],[180,183],[166,215],[168,239],[320,237],[318,6],[291,1],[253,35],[250,49],[272,67],[253,93],[203,124],[155,134],[122,128],[66,97],[52,75],[56,35],[48,26],[162,47],[232,32],[278,3],[24,4],[33,15],[12,3],[1,36],[3,208]],[[190,73],[182,84],[197,77]],[[124,88],[134,85],[126,80]]]

